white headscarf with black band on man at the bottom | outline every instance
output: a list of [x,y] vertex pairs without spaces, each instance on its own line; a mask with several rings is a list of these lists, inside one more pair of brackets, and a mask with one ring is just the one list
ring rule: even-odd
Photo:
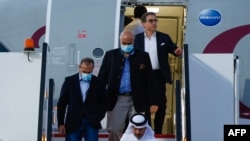
[[[145,133],[142,136],[140,140],[138,140],[133,133],[133,127],[134,128],[145,128]],[[134,114],[128,124],[128,127],[125,131],[125,133],[122,135],[122,138],[120,141],[156,141],[154,137],[154,131],[149,126],[147,119],[145,118],[145,115],[137,113]]]

